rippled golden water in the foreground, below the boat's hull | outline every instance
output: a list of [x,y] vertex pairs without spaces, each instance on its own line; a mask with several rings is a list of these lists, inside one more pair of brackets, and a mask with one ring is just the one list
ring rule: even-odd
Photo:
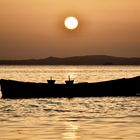
[[0,100],[0,139],[139,140],[140,98]]

